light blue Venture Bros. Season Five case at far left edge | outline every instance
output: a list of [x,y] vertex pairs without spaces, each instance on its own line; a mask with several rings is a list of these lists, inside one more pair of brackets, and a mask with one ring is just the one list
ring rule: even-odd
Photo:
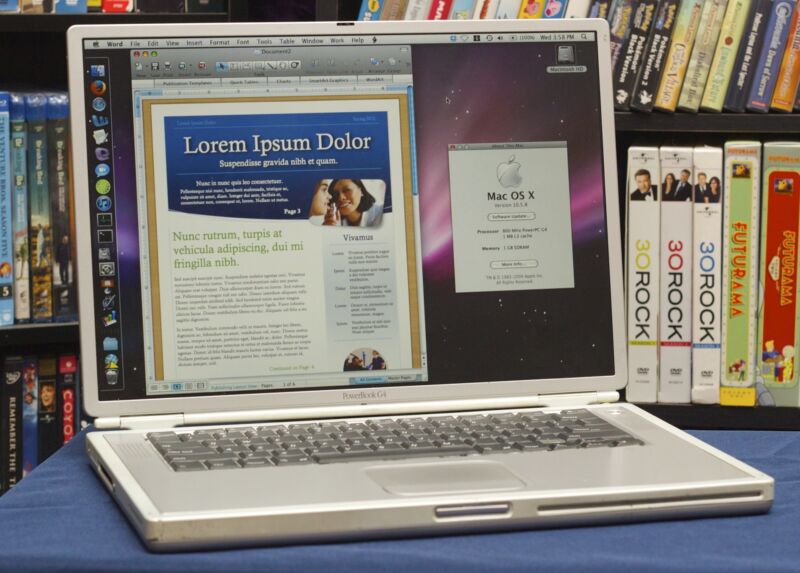
[[14,324],[10,109],[9,93],[0,92],[0,326]]

